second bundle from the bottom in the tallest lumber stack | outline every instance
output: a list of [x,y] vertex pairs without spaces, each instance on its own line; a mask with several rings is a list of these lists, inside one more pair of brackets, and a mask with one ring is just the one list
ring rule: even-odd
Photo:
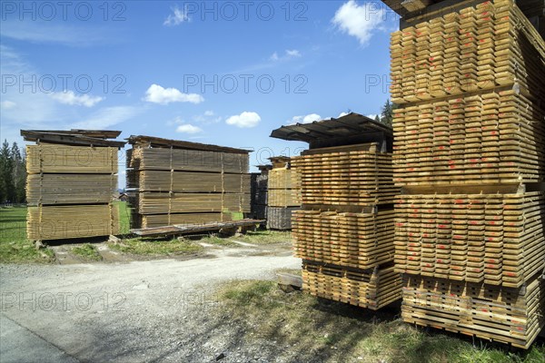
[[519,288],[543,269],[545,195],[401,195],[396,268],[402,273]]

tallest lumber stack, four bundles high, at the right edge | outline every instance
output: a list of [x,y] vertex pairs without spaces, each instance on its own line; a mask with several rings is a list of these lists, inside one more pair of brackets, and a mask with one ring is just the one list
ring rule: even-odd
[[391,36],[401,316],[528,348],[545,325],[545,43],[511,0],[457,6]]

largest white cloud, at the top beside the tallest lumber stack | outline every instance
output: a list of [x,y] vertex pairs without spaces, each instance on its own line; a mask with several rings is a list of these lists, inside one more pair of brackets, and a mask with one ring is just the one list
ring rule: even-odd
[[358,5],[354,0],[344,3],[332,18],[332,23],[343,33],[355,36],[360,44],[367,45],[372,32],[381,29],[385,10],[374,3]]

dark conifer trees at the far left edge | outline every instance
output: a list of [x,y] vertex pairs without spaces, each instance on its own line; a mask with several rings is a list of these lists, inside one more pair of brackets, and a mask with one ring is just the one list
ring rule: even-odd
[[0,203],[26,201],[26,156],[17,142],[11,146],[7,140],[0,149]]

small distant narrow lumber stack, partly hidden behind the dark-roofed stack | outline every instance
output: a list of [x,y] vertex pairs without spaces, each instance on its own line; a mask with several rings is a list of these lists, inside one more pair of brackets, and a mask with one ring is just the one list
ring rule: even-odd
[[292,212],[301,207],[299,174],[290,165],[290,158],[277,156],[269,159],[272,170],[267,185],[267,228],[291,230]]

